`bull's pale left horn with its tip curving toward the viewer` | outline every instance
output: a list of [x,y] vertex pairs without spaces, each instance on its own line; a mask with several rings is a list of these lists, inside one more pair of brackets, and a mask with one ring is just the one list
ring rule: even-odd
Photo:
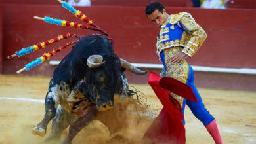
[[87,59],[87,65],[88,67],[91,67],[91,68],[100,67],[100,65],[105,63],[105,61],[102,62],[102,60],[103,60],[103,57],[100,55],[91,55]]

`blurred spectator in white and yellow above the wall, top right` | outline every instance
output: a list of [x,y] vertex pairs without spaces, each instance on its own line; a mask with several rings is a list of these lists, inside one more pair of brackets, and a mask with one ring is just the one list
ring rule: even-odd
[[229,0],[200,0],[202,8],[226,9],[225,5]]

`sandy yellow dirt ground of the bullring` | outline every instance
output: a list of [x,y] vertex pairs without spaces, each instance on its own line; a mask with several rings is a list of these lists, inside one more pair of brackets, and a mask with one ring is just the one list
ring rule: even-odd
[[[49,77],[0,75],[0,144],[40,143],[45,137],[35,136],[31,129],[43,118],[43,99]],[[74,139],[74,143],[140,143],[144,132],[161,110],[161,103],[148,84],[131,84],[142,91],[148,107],[146,116],[138,115],[129,101],[117,102],[112,111],[100,115],[112,122],[118,132],[112,134],[106,125],[94,120]],[[217,120],[224,143],[256,143],[256,92],[198,88],[205,107]],[[129,109],[127,107],[130,107]],[[137,113],[135,111],[137,109]],[[144,113],[144,114],[145,114]],[[113,116],[112,119],[109,116]],[[114,120],[113,120],[114,118]],[[115,119],[116,118],[116,119]],[[188,107],[185,111],[186,143],[214,143],[203,124]],[[62,139],[68,134],[65,130]]]

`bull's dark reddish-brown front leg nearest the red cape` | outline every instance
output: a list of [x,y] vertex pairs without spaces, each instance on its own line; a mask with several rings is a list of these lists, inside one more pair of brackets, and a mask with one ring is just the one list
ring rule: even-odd
[[75,122],[73,122],[69,128],[68,137],[62,142],[62,144],[68,144],[72,142],[72,139],[78,132],[81,131],[85,126],[90,124],[90,122],[96,117],[98,109],[95,103],[92,103],[85,109],[85,113],[82,117],[79,117]]

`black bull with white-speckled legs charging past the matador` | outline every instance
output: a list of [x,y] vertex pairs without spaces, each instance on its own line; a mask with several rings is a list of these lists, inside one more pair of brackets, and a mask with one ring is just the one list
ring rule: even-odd
[[146,73],[116,56],[112,44],[102,35],[79,39],[56,67],[45,98],[45,116],[32,133],[45,135],[53,119],[52,132],[45,141],[58,140],[70,125],[63,143],[71,143],[98,111],[114,106],[114,94],[129,95],[125,69],[137,75]]

